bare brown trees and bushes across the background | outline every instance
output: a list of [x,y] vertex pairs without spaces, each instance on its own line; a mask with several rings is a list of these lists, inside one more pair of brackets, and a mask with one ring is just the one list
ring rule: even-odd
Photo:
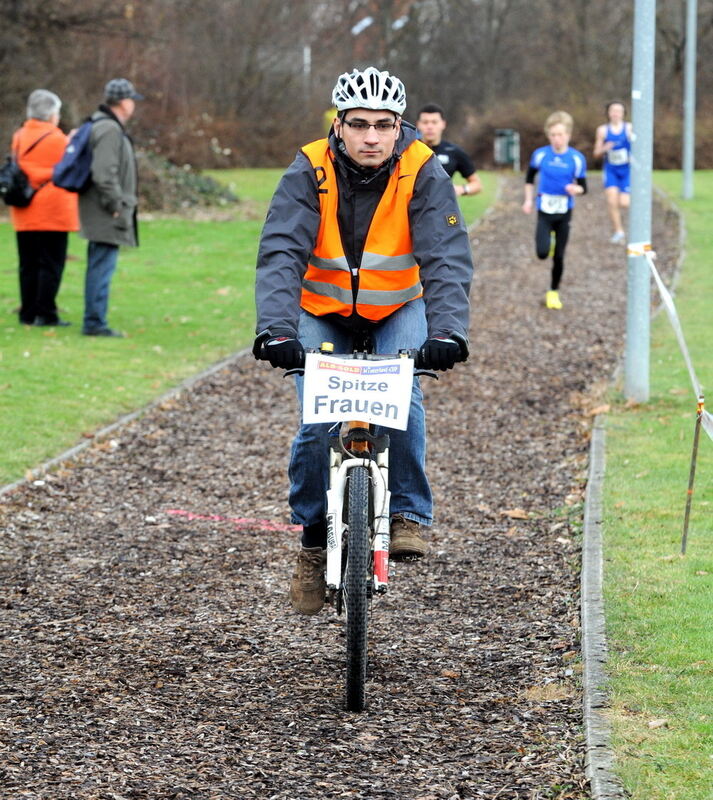
[[[682,9],[659,0],[659,116],[680,110]],[[284,163],[321,134],[335,78],[355,66],[398,74],[407,118],[439,102],[463,141],[498,125],[541,136],[554,107],[592,129],[631,82],[620,0],[0,0],[0,12],[6,141],[32,89],[57,91],[74,125],[124,75],[147,95],[139,141],[202,165]],[[699,0],[702,108],[712,32],[713,0]]]

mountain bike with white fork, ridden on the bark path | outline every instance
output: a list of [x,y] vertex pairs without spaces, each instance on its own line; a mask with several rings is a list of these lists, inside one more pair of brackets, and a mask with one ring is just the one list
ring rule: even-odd
[[[307,352],[331,355],[326,343]],[[362,363],[400,358],[412,376],[436,378],[416,367],[417,350],[394,356],[365,349],[335,357]],[[346,615],[346,707],[362,711],[371,600],[389,585],[389,435],[377,435],[373,424],[353,419],[337,423],[335,430],[329,438],[326,583],[328,601],[337,614]]]

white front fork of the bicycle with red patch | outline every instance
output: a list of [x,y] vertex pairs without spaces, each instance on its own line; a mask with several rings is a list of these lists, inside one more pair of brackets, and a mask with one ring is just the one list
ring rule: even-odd
[[368,467],[371,474],[370,530],[373,553],[373,589],[387,590],[389,580],[389,453],[385,449],[376,458],[345,457],[336,448],[329,451],[329,489],[327,491],[327,587],[342,588],[343,547],[347,525],[344,521],[344,497],[349,470]]

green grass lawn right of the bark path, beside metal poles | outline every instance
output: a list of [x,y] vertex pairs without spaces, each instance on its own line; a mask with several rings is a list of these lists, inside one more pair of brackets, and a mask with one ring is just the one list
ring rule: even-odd
[[[685,215],[675,302],[705,389],[713,386],[713,172],[696,173],[690,201],[678,199],[679,172],[655,180]],[[623,400],[606,419],[604,511],[617,770],[634,800],[703,800],[713,797],[713,441],[701,432],[681,558],[696,398],[665,313],[652,324],[651,400],[634,408]]]

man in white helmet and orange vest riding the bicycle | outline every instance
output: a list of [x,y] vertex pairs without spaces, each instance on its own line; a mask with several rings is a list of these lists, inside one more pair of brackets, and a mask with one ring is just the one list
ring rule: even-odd
[[[322,342],[351,352],[418,348],[424,368],[468,356],[473,262],[450,179],[402,120],[403,83],[374,67],[344,73],[332,93],[332,132],[303,147],[272,198],[257,260],[256,358],[292,369]],[[301,399],[302,380],[297,380]],[[329,424],[302,425],[289,465],[292,521],[302,547],[290,586],[295,610],[324,603]],[[414,379],[407,431],[391,430],[391,545],[395,560],[427,552],[423,395]]]

